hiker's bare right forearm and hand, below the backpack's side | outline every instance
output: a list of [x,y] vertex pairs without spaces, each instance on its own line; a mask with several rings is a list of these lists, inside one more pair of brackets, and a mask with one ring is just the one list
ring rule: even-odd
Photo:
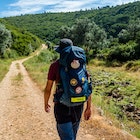
[[90,117],[91,117],[91,95],[88,97],[87,106],[84,112],[85,120],[89,120]]

